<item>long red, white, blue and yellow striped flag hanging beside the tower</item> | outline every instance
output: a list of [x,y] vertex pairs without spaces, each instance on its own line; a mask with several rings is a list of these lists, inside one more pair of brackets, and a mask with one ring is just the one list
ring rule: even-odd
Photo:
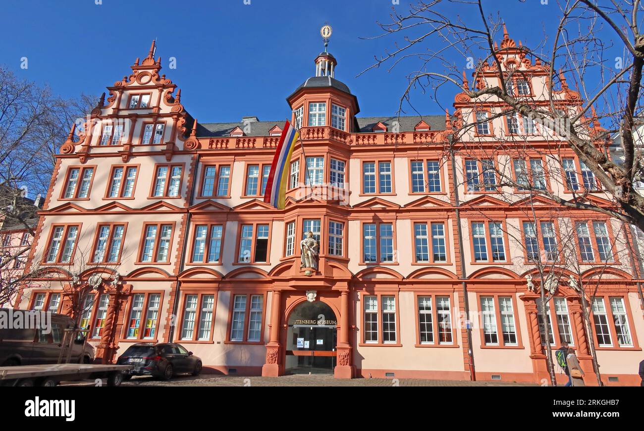
[[298,141],[298,131],[287,121],[279,137],[278,149],[270,166],[264,202],[279,210],[286,205],[286,186],[289,181],[290,156]]

